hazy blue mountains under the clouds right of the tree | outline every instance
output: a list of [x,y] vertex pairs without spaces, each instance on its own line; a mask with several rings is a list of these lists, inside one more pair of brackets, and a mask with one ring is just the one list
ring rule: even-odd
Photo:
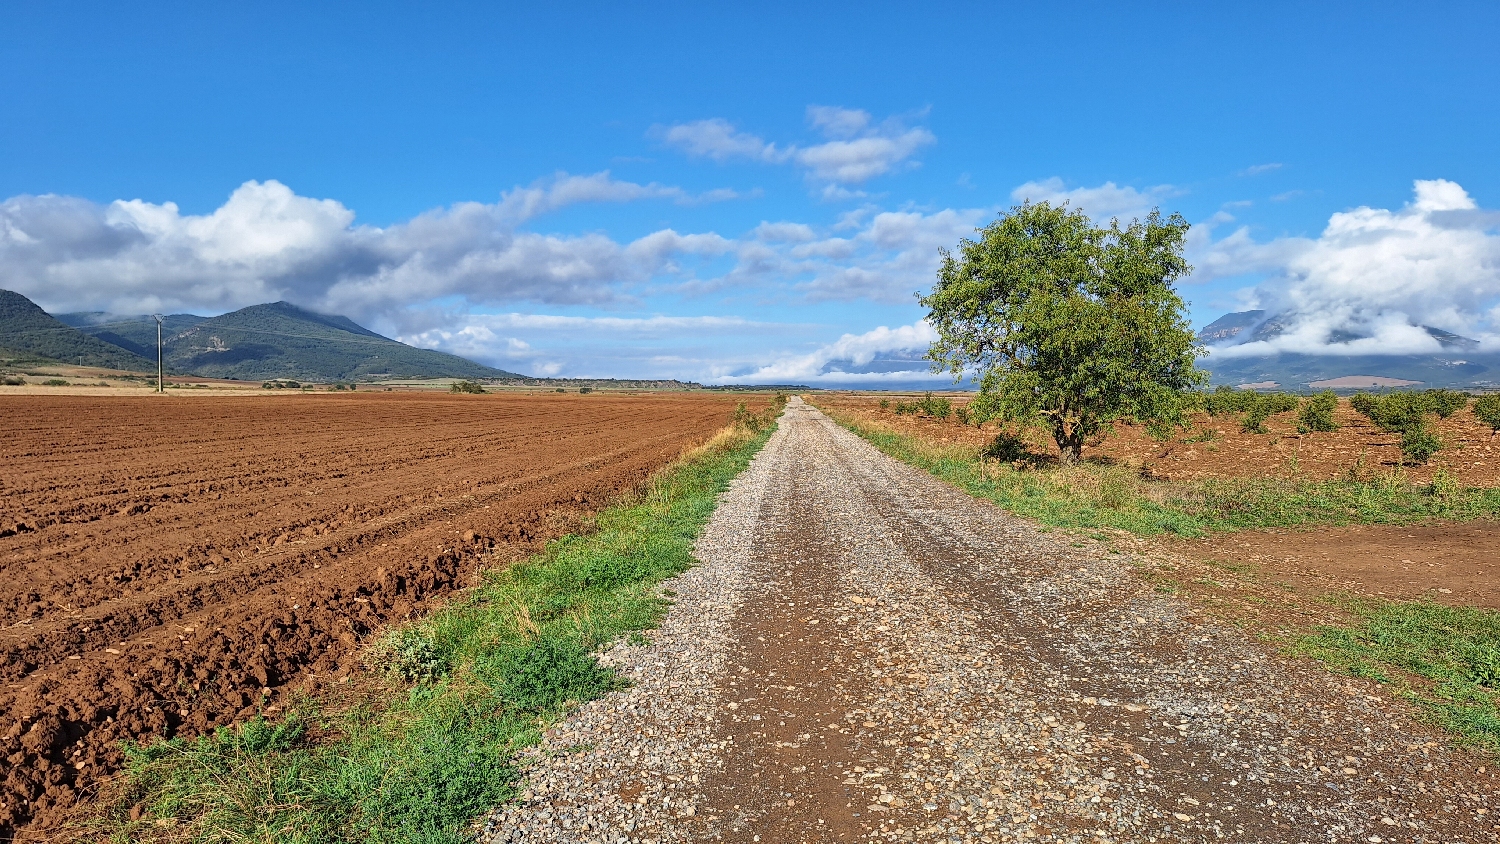
[[[1198,331],[1208,346],[1228,349],[1244,343],[1272,340],[1294,324],[1294,315],[1264,310],[1226,313]],[[1419,325],[1438,342],[1442,354],[1400,355],[1308,355],[1268,354],[1226,357],[1210,354],[1198,361],[1214,384],[1263,384],[1274,381],[1284,390],[1317,388],[1314,384],[1350,376],[1416,381],[1424,387],[1494,388],[1500,387],[1500,354],[1479,351],[1479,342],[1442,328]],[[1334,331],[1332,343],[1362,339],[1352,331]]]

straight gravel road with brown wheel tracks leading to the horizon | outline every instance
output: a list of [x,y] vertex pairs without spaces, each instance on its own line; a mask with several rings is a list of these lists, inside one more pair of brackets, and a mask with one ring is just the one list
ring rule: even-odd
[[486,843],[1496,841],[1494,762],[794,399]]

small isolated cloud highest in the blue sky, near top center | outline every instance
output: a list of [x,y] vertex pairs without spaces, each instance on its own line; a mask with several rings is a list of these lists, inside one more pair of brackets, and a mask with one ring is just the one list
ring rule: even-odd
[[807,121],[824,135],[824,142],[777,145],[722,117],[658,127],[657,133],[692,156],[718,162],[795,163],[830,199],[862,196],[850,186],[916,166],[912,156],[938,139],[927,129],[909,127],[900,118],[876,123],[870,112],[854,108],[813,105],[807,108]]

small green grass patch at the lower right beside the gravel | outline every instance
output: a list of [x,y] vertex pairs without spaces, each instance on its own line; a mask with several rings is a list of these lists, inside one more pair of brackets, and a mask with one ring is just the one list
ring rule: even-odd
[[1362,600],[1354,624],[1320,627],[1292,649],[1390,684],[1458,744],[1500,753],[1500,612]]

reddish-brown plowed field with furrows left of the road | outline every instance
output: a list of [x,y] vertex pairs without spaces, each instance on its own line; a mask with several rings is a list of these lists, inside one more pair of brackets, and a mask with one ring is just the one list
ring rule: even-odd
[[122,739],[357,670],[360,643],[728,423],[718,396],[0,402],[0,840]]

